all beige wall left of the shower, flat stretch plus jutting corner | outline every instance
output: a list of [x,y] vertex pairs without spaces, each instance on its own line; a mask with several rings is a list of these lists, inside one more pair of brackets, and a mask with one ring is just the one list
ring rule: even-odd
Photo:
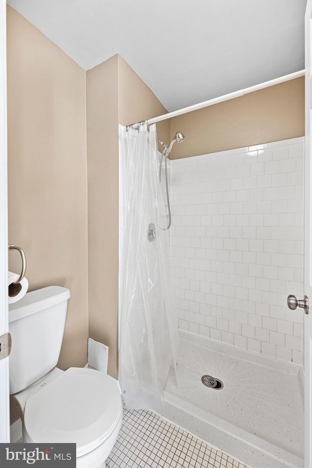
[[11,7],[7,30],[9,239],[26,252],[30,291],[71,290],[59,367],[85,365],[89,335],[110,347],[117,376],[118,121],[166,109],[119,56],[86,74]]

